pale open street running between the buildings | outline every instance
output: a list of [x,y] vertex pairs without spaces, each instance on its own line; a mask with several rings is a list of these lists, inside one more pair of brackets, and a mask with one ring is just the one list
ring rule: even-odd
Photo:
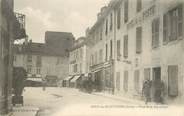
[[[25,88],[25,106],[38,107],[38,116],[94,116],[94,115],[167,115],[171,107],[135,108],[138,106],[128,101],[115,100],[94,94],[87,94],[71,88]],[[132,109],[134,109],[132,112]],[[173,109],[173,107],[172,107]],[[142,110],[143,112],[140,112]],[[174,111],[174,110],[173,110]],[[179,113],[182,110],[176,110]],[[175,112],[176,112],[175,111]]]

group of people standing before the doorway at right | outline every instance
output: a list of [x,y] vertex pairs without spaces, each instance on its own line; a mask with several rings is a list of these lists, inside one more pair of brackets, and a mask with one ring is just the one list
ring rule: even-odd
[[164,83],[160,80],[151,81],[146,79],[143,83],[142,95],[144,96],[145,103],[150,101],[157,103],[164,102]]

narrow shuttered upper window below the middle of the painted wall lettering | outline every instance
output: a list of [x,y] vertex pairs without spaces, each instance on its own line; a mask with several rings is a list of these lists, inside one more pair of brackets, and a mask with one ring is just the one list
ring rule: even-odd
[[142,27],[136,28],[136,53],[142,52]]

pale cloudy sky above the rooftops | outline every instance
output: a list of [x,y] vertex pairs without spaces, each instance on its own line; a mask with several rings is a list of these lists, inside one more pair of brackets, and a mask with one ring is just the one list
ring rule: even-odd
[[85,35],[100,8],[110,0],[14,0],[15,11],[26,15],[26,32],[34,42],[44,42],[45,31]]

